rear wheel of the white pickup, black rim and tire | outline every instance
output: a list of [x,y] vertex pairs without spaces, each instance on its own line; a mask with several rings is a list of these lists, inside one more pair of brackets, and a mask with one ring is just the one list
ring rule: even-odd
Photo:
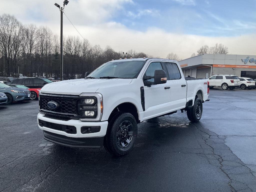
[[203,113],[202,100],[200,98],[196,98],[193,107],[187,110],[188,119],[191,122],[198,122],[202,117],[202,113]]

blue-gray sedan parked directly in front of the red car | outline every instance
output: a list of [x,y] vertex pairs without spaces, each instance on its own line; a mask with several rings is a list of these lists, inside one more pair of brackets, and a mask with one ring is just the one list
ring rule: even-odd
[[13,101],[30,100],[30,91],[23,88],[16,88],[0,83],[0,92],[6,94],[7,104]]

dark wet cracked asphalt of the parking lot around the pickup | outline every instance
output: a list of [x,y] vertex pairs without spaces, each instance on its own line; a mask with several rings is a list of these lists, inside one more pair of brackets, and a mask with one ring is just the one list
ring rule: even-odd
[[0,191],[256,191],[256,90],[210,90],[202,119],[138,124],[133,150],[43,139],[38,101],[0,105]]

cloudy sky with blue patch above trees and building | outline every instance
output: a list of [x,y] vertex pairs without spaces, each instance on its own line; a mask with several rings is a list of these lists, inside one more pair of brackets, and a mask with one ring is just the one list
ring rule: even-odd
[[[1,0],[0,13],[59,34],[63,0]],[[256,0],[70,0],[64,11],[84,38],[104,49],[188,58],[222,43],[230,54],[256,55]],[[63,15],[64,35],[79,35]]]

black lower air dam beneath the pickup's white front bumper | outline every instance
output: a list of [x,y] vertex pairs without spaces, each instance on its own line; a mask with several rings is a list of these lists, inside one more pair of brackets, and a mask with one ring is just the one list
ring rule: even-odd
[[65,135],[59,135],[48,131],[44,132],[44,139],[53,143],[68,147],[89,147],[89,148],[100,148],[103,146],[104,137],[95,138],[74,138],[67,137]]

